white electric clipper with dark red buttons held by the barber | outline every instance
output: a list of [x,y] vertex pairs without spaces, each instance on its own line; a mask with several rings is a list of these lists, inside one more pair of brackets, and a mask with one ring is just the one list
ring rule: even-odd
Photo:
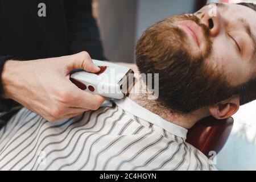
[[92,61],[101,68],[100,72],[89,73],[80,70],[70,77],[80,89],[108,98],[122,99],[133,88],[135,78],[130,68],[108,61]]

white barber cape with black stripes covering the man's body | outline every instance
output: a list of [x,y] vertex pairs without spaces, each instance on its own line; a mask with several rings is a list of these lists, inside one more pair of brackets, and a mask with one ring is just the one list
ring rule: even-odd
[[216,169],[185,142],[185,129],[129,98],[116,103],[55,123],[23,108],[0,130],[0,170]]

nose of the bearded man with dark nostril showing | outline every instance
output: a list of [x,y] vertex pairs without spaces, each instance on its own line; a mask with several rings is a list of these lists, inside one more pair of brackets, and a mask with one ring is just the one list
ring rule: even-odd
[[209,10],[203,11],[196,16],[201,19],[201,23],[204,23],[210,30],[210,36],[215,37],[221,30],[221,16],[218,11],[211,14]]

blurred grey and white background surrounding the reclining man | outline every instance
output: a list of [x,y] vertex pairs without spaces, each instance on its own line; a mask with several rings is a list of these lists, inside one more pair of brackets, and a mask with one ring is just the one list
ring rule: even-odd
[[[134,63],[135,43],[147,27],[173,14],[193,13],[208,2],[220,1],[93,0],[93,15],[100,27],[106,57],[110,61]],[[233,118],[233,131],[217,155],[217,168],[256,170],[256,101],[242,106]]]

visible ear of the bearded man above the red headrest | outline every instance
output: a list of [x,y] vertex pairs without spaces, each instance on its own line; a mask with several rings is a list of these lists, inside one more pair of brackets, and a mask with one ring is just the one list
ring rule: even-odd
[[226,119],[235,114],[240,107],[240,98],[230,98],[219,104],[209,106],[210,114],[216,119]]

